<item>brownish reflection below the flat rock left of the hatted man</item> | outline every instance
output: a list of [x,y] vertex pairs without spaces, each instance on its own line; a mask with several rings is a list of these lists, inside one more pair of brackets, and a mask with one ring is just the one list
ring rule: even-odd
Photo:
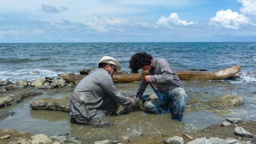
[[35,119],[44,119],[46,121],[70,121],[70,115],[62,111],[30,110],[31,117]]

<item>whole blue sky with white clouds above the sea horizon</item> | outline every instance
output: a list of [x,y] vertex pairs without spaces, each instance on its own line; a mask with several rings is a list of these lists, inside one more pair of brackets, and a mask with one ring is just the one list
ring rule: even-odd
[[0,0],[0,43],[236,41],[256,0]]

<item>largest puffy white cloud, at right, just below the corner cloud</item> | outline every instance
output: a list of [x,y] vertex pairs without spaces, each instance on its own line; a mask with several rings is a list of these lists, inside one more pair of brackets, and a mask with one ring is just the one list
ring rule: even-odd
[[221,25],[229,29],[238,29],[239,25],[248,24],[249,20],[246,16],[241,15],[232,10],[220,10],[216,13],[215,17],[210,19],[210,24]]

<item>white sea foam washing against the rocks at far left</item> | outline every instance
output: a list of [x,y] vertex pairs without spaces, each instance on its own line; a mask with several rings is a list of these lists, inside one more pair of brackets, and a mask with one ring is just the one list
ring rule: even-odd
[[39,77],[54,77],[57,78],[59,73],[67,71],[54,71],[47,69],[34,69],[34,70],[19,70],[19,71],[0,71],[0,80],[10,80],[13,83],[17,80],[34,81]]

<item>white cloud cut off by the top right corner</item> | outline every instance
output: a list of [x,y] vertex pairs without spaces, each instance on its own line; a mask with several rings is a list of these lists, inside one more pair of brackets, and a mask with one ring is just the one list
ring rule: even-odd
[[244,14],[254,15],[256,17],[256,0],[238,0],[243,4],[240,11]]

